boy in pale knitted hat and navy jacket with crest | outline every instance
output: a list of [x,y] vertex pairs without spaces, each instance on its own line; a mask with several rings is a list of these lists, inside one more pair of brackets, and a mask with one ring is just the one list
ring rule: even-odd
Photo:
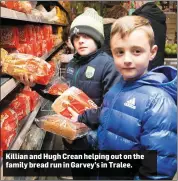
[[[87,8],[72,22],[70,38],[77,53],[67,66],[66,79],[70,86],[81,89],[100,107],[105,93],[120,78],[113,59],[100,50],[104,43],[103,18],[94,9]],[[89,126],[92,129],[97,129],[98,115],[99,109],[86,110],[77,119],[84,122],[92,120]],[[87,137],[96,139],[92,135],[94,135],[93,132],[90,132]],[[72,143],[63,139],[65,149],[93,149],[88,143],[87,137],[77,139]],[[86,173],[86,177],[83,179],[89,179],[92,174],[92,172]],[[73,177],[74,179],[82,179],[75,177],[75,173]]]

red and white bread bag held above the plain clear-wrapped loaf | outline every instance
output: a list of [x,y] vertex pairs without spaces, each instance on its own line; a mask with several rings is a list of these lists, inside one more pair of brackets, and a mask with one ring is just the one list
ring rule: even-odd
[[82,114],[86,109],[97,109],[97,105],[80,89],[70,87],[52,104],[52,109],[67,118],[72,118],[68,107],[78,114]]

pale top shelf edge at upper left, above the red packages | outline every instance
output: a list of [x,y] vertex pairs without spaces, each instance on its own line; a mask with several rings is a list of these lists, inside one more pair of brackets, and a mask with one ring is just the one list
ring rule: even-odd
[[1,18],[14,19],[14,20],[20,20],[20,21],[28,21],[28,22],[34,22],[34,23],[67,26],[67,24],[52,23],[52,22],[45,20],[42,17],[37,17],[37,16],[32,15],[32,14],[25,14],[25,13],[18,12],[18,11],[12,10],[12,9],[7,9],[4,7],[1,7],[0,11],[1,11]]

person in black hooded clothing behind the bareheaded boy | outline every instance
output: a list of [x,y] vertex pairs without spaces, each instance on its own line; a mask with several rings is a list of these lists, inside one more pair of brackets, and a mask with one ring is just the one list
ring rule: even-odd
[[153,28],[155,34],[155,44],[158,46],[158,51],[150,62],[148,70],[151,70],[157,66],[164,65],[164,48],[166,42],[166,15],[155,4],[155,2],[147,1],[135,1],[137,9],[132,15],[143,16],[147,18]]

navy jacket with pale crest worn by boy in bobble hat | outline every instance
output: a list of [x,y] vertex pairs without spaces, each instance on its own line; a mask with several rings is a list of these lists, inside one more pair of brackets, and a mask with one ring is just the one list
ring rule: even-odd
[[[88,56],[75,55],[67,66],[66,79],[70,86],[81,89],[97,106],[101,106],[105,93],[119,81],[120,74],[112,57],[98,50]],[[98,125],[98,114],[99,111],[86,110],[78,119],[84,123],[93,120],[89,126],[95,129]]]

